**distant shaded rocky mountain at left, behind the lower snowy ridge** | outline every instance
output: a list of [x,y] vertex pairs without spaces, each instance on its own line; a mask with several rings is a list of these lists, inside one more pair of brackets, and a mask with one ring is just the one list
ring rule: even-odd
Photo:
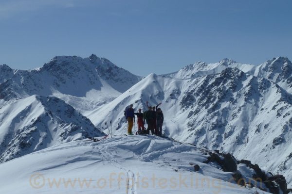
[[33,70],[0,65],[0,99],[55,96],[83,112],[111,101],[141,79],[94,54],[84,59],[59,56]]

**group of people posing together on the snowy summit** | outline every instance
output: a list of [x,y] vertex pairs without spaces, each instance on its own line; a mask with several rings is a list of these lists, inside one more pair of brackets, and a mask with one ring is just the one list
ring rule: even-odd
[[[158,106],[161,105],[159,103],[156,107],[151,107],[146,101],[146,106],[148,110],[142,113],[141,109],[138,109],[138,113],[134,112],[133,104],[131,104],[125,110],[125,116],[128,121],[128,135],[133,135],[132,128],[135,120],[135,115],[137,116],[137,124],[138,124],[138,134],[150,134],[162,136],[162,125],[164,121],[164,115],[161,108]],[[145,120],[147,122],[147,129],[144,127]]]

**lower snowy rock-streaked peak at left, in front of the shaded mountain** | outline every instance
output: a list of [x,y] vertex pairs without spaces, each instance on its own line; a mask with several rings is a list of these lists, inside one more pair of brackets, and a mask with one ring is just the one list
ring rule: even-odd
[[88,118],[56,97],[34,95],[0,106],[0,162],[102,134]]

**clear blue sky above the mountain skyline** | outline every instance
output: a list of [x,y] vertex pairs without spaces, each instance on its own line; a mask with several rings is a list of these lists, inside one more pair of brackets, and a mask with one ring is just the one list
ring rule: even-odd
[[292,0],[0,0],[0,64],[91,53],[134,74],[292,60]]

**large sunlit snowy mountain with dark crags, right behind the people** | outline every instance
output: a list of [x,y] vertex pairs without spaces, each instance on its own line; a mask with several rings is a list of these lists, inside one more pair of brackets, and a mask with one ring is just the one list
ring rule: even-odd
[[86,116],[100,129],[112,120],[116,134],[123,134],[128,104],[146,110],[146,100],[162,102],[166,136],[231,152],[283,174],[292,186],[291,70],[284,57],[261,65],[200,62],[168,75],[151,74]]

